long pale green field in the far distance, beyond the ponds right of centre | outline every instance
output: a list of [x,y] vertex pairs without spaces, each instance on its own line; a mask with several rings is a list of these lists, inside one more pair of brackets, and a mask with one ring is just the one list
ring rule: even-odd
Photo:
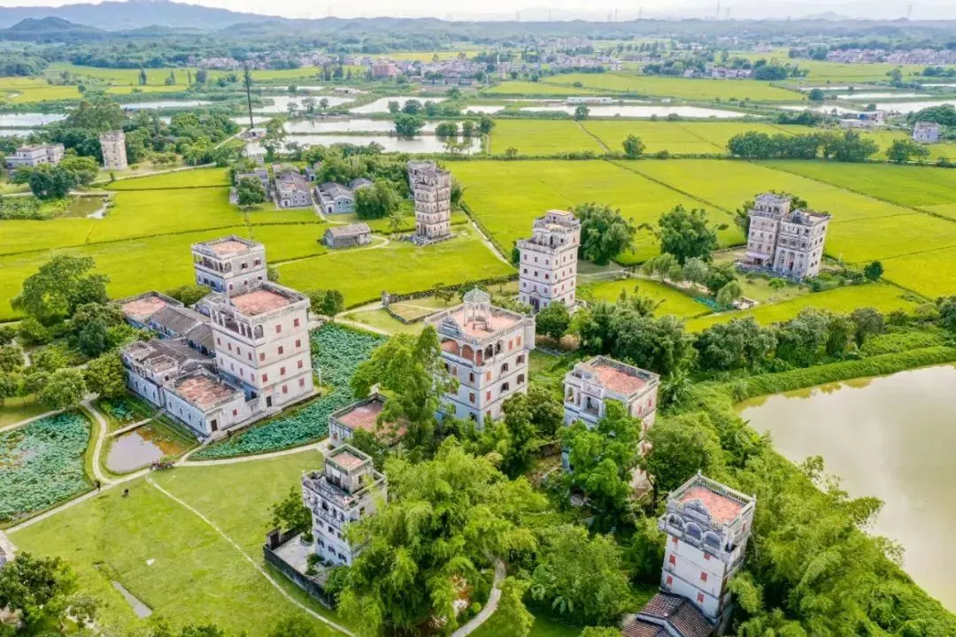
[[770,82],[750,79],[690,79],[631,73],[573,73],[549,76],[539,83],[571,86],[575,82],[579,82],[585,88],[598,91],[708,101],[738,99],[803,101],[805,99],[803,94],[796,91],[771,86]]

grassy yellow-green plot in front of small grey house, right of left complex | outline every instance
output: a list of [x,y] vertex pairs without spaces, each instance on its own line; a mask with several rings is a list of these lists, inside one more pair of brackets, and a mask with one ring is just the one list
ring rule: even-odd
[[514,272],[491,253],[473,228],[460,232],[466,236],[424,247],[393,241],[384,247],[332,251],[277,267],[283,285],[299,290],[336,287],[345,296],[346,306],[377,300],[382,290],[402,294]]

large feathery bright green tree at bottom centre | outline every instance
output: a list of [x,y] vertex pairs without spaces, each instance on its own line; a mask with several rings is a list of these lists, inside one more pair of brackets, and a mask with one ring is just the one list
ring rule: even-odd
[[462,583],[476,581],[489,556],[528,557],[537,543],[526,519],[547,503],[450,437],[434,459],[389,458],[385,474],[388,501],[349,527],[363,548],[339,606],[359,637],[410,634],[430,619],[453,629]]

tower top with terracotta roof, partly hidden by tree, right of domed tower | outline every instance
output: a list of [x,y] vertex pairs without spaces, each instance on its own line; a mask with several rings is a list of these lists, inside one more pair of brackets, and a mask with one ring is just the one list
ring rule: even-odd
[[577,363],[564,375],[564,424],[580,420],[589,429],[604,417],[608,400],[617,400],[627,414],[641,418],[643,432],[654,424],[661,376],[607,356]]

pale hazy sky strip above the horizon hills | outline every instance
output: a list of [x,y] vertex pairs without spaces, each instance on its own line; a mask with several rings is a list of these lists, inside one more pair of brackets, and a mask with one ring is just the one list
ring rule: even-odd
[[[0,0],[0,6],[56,6],[96,0]],[[621,20],[643,15],[652,17],[712,16],[717,0],[177,0],[206,7],[232,11],[248,11],[287,17],[359,16],[414,16],[431,15],[440,18],[467,20],[489,16],[513,17],[520,8],[526,19],[548,19],[549,11],[555,20],[574,18],[606,19],[617,10]],[[729,9],[732,18],[793,17],[836,11],[851,17],[896,18],[905,14],[913,3],[914,19],[950,17],[956,13],[956,2],[951,0],[722,0],[722,14]],[[941,12],[942,11],[942,12]]]

